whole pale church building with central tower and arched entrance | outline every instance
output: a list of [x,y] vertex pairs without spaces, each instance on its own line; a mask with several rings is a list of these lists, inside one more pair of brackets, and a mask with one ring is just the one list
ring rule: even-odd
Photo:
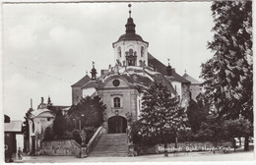
[[191,83],[148,52],[149,42],[136,33],[131,11],[125,27],[125,33],[112,43],[115,66],[101,70],[100,76],[96,76],[93,64],[91,78],[86,75],[72,85],[73,104],[86,96],[101,97],[106,105],[103,114],[106,133],[126,133],[129,123],[140,118],[143,89],[155,81],[166,85],[183,107],[188,106],[191,95]]

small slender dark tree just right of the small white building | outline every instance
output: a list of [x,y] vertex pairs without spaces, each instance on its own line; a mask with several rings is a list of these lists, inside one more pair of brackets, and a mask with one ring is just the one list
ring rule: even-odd
[[66,129],[66,120],[62,114],[62,111],[59,110],[56,114],[55,120],[53,121],[52,130],[56,138],[61,138]]

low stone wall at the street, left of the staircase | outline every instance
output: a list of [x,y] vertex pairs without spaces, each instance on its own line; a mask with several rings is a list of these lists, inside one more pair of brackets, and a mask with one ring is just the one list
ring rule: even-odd
[[74,139],[42,141],[40,155],[75,156],[80,151],[80,144]]

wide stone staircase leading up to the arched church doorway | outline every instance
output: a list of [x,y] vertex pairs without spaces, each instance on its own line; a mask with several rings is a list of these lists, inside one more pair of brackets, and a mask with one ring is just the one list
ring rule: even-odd
[[126,134],[102,134],[91,157],[126,157],[128,151]]

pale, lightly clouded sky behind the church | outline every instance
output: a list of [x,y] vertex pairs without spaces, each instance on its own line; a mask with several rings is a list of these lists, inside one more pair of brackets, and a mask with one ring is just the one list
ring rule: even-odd
[[[136,33],[148,51],[200,80],[201,64],[214,27],[211,2],[132,3]],[[54,105],[71,105],[71,85],[96,63],[97,73],[114,64],[112,43],[125,33],[128,3],[4,4],[4,114],[23,120],[40,97]],[[202,80],[201,80],[202,81]]]

